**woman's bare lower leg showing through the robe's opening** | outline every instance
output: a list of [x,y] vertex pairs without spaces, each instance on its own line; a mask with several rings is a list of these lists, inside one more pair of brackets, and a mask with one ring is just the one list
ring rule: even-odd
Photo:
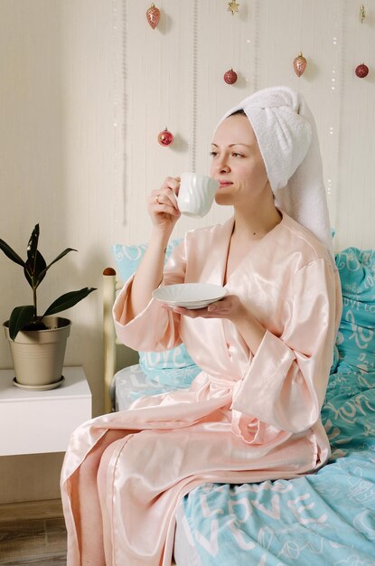
[[115,440],[123,439],[128,432],[108,430],[71,477],[71,503],[82,566],[106,566],[102,515],[98,498],[98,467],[104,450]]

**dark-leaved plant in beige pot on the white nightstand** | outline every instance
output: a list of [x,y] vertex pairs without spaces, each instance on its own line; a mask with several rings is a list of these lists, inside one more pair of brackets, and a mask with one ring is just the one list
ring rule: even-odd
[[27,389],[43,390],[58,387],[63,382],[62,366],[71,322],[56,314],[73,307],[95,288],[85,287],[65,293],[53,301],[43,315],[39,315],[36,291],[48,269],[70,251],[77,250],[67,248],[61,251],[47,265],[38,250],[38,242],[39,224],[36,224],[27,245],[25,261],[1,239],[0,250],[23,268],[23,275],[33,289],[33,305],[14,307],[9,320],[4,323],[14,361],[14,384]]

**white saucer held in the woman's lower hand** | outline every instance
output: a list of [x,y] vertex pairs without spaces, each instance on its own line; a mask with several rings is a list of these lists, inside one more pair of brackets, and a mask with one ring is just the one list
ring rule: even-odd
[[153,291],[161,303],[170,307],[204,308],[227,294],[227,289],[210,283],[167,285]]

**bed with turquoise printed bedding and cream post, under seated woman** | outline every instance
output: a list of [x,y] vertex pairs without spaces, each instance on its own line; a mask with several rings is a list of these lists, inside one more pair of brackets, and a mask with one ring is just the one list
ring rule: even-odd
[[[199,373],[183,345],[136,353],[118,371],[111,309],[145,245],[112,250],[117,269],[103,274],[107,412],[188,387]],[[348,248],[335,260],[343,312],[322,410],[332,457],[292,480],[193,489],[176,512],[177,566],[375,566],[375,250]]]

